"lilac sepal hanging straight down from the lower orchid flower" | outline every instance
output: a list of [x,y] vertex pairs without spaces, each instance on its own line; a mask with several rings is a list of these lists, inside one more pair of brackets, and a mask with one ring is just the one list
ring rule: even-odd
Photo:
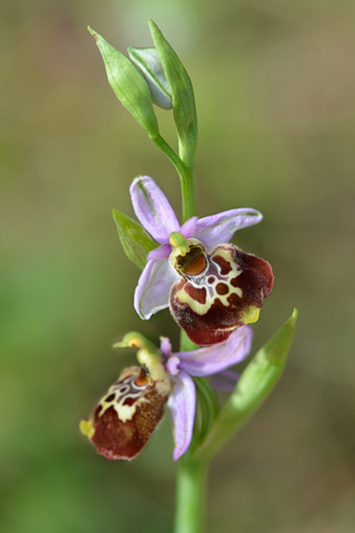
[[179,372],[174,380],[174,389],[168,400],[168,408],[174,424],[174,461],[178,461],[190,446],[195,418],[196,392],[192,378]]

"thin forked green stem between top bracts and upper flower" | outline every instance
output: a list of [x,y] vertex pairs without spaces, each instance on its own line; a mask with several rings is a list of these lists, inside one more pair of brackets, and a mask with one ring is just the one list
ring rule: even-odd
[[191,217],[195,217],[197,212],[193,167],[184,164],[178,153],[170,144],[168,144],[162,135],[155,137],[153,141],[170,159],[179,174],[182,194],[183,222],[186,222]]

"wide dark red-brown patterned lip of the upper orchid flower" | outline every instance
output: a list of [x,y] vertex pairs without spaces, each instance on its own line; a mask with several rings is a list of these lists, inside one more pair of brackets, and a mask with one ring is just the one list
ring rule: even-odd
[[236,328],[257,320],[264,298],[273,289],[273,271],[267,261],[233,244],[220,244],[206,253],[194,241],[191,250],[192,263],[199,258],[199,265],[204,268],[182,268],[189,254],[172,258],[182,279],[171,289],[170,310],[195,344],[216,344],[226,341]]

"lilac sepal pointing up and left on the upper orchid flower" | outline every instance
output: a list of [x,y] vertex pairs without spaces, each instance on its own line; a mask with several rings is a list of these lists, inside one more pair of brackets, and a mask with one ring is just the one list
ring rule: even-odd
[[145,230],[160,244],[169,243],[169,235],[180,224],[168,198],[148,175],[135,178],[130,188],[133,209]]

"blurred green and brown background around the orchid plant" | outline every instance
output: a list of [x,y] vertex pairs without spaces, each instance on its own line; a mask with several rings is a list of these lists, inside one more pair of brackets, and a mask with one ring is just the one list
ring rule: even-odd
[[[275,289],[254,348],[300,310],[282,382],[214,461],[209,533],[355,527],[355,4],[349,0],[2,0],[0,19],[2,533],[169,532],[169,416],[132,463],[108,462],[78,423],[156,341],[111,209],[152,175],[181,212],[173,168],[115,100],[87,24],[150,46],[153,18],[194,83],[199,214],[264,213],[234,242],[267,259]],[[172,117],[158,111],[174,142]]]

